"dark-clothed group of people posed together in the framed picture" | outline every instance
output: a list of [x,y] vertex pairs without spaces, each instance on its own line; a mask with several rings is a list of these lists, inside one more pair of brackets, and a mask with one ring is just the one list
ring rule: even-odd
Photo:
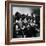
[[15,14],[14,21],[14,36],[16,38],[24,37],[37,37],[39,33],[38,24],[36,24],[35,16],[28,16],[20,13]]

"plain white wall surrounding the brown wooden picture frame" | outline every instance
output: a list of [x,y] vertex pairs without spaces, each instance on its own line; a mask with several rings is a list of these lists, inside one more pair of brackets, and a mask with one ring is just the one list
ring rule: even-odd
[[[21,0],[21,1],[31,1],[31,0]],[[45,0],[32,0],[32,1],[46,2]],[[5,0],[0,0],[0,46],[5,46],[4,45],[5,44],[5,5],[4,4],[5,4]],[[45,19],[46,19],[46,16],[45,16]],[[46,20],[45,20],[45,22],[46,22]],[[46,24],[45,24],[45,26],[46,26]],[[46,35],[46,33],[45,33],[45,35]],[[14,46],[14,45],[12,45],[12,46]],[[15,46],[46,46],[46,43],[33,43],[33,44],[21,44],[21,45],[18,44]]]

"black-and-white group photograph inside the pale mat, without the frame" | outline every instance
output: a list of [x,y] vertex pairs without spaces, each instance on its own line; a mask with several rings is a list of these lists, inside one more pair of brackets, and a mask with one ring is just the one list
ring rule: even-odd
[[40,36],[40,7],[12,7],[13,38]]

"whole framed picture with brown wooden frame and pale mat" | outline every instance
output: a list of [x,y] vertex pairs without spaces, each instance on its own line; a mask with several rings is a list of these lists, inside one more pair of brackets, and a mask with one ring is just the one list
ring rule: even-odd
[[45,3],[5,2],[5,43],[45,42]]

